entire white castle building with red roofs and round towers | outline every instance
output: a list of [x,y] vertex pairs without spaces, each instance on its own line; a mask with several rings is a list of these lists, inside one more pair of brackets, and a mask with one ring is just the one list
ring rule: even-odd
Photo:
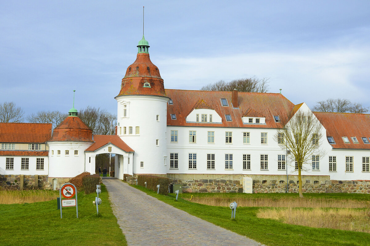
[[[0,123],[3,179],[44,175],[56,188],[60,179],[95,173],[96,155],[114,153],[118,179],[124,174],[161,175],[189,183],[184,189],[188,192],[196,190],[190,183],[199,180],[208,180],[203,181],[208,192],[216,183],[241,182],[243,177],[258,180],[257,190],[259,183],[296,183],[295,166],[286,163],[287,151],[273,136],[284,127],[280,118],[311,112],[305,103],[295,105],[280,93],[166,90],[144,36],[137,47],[137,59],[128,66],[115,97],[116,135],[92,135],[75,108],[52,136],[50,124]],[[334,180],[363,182],[361,192],[370,193],[370,115],[313,114],[323,126],[319,141],[325,155],[313,156],[302,171],[303,180],[322,187]],[[240,182],[234,186],[241,187]]]

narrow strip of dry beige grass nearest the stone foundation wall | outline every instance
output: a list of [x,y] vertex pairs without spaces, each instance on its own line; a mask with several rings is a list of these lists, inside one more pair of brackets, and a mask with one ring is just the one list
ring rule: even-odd
[[[190,200],[190,199],[187,199]],[[193,197],[192,202],[211,206],[228,207],[233,201],[238,207],[284,207],[284,208],[364,208],[366,201],[337,200],[326,198],[225,198]]]

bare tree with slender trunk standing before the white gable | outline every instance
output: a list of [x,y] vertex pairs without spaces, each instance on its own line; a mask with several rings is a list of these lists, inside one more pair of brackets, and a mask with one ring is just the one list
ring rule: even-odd
[[282,123],[284,128],[277,129],[274,139],[280,148],[290,150],[287,163],[294,163],[295,169],[298,170],[299,197],[303,197],[302,170],[310,170],[308,167],[313,163],[315,166],[312,168],[316,168],[316,161],[326,154],[320,149],[323,137],[322,125],[312,112],[301,110],[295,115],[289,115],[286,119],[282,119]]

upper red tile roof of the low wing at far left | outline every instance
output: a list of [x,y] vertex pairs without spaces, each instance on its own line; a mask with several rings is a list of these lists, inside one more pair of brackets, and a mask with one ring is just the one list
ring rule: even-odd
[[51,138],[51,124],[0,123],[0,143],[44,143]]

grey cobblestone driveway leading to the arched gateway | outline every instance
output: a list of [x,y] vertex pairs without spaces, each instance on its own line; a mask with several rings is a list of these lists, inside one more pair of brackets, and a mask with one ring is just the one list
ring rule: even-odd
[[121,180],[104,178],[103,183],[129,246],[262,245],[174,208]]

